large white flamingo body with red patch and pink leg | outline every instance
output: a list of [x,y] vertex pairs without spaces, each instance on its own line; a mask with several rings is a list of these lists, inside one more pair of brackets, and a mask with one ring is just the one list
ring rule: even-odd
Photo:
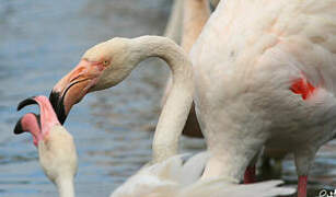
[[264,144],[294,153],[298,195],[335,135],[336,1],[227,0],[190,59],[211,158],[204,175],[239,182]]

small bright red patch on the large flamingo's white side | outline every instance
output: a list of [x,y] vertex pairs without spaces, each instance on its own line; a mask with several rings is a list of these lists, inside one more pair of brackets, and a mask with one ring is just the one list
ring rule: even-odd
[[313,86],[303,78],[296,80],[290,86],[290,90],[296,94],[301,94],[303,100],[309,99],[313,94],[315,89],[315,86]]

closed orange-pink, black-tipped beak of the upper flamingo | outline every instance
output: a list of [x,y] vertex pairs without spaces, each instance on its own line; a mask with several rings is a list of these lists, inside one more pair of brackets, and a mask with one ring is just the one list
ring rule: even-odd
[[72,105],[79,103],[96,84],[103,70],[102,62],[82,59],[72,71],[57,82],[49,101],[60,124],[66,121]]

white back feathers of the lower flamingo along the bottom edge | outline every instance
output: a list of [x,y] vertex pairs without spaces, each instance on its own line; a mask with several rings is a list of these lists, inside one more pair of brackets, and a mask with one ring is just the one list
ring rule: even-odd
[[290,195],[293,188],[278,187],[281,181],[250,185],[230,184],[224,178],[201,181],[208,155],[176,155],[157,164],[143,166],[111,197],[266,197]]

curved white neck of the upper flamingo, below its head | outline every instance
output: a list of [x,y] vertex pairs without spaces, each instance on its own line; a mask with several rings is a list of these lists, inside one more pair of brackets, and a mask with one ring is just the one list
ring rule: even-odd
[[[173,74],[173,88],[161,112],[153,139],[153,161],[160,162],[177,153],[182,134],[193,103],[193,68],[187,55],[174,42],[160,36],[142,36],[131,42],[137,63],[148,57],[166,61]],[[137,65],[136,63],[136,65]]]

